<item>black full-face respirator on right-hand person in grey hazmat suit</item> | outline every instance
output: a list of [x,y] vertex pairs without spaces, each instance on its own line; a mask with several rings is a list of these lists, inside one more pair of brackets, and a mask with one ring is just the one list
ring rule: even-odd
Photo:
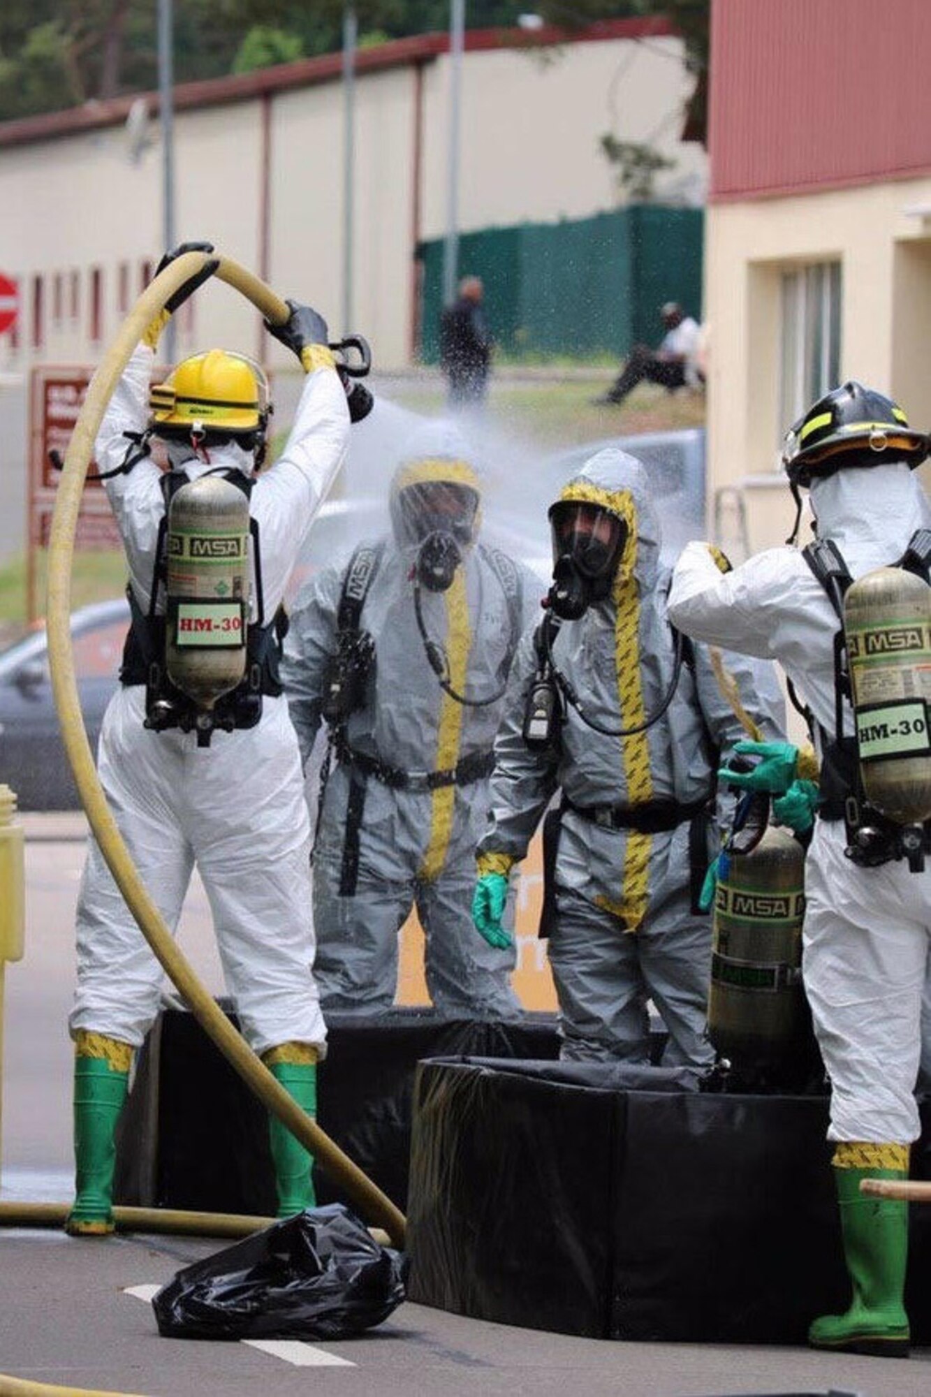
[[549,510],[552,585],[547,605],[561,620],[579,620],[611,595],[628,525],[598,504],[558,500]]

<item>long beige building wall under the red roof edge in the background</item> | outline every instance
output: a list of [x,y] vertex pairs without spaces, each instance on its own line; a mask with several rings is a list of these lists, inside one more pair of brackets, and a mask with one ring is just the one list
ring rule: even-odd
[[[447,57],[424,68],[421,237],[442,236],[447,218]],[[678,168],[658,193],[684,183],[699,198],[705,152],[678,142],[691,80],[679,41],[608,41],[530,57],[514,50],[466,54],[459,225],[466,232],[519,219],[575,218],[614,204],[598,137],[656,140]],[[282,295],[320,307],[335,334],[358,330],[382,369],[408,362],[412,317],[415,75],[410,67],[356,80],[354,324],[342,319],[342,87],[333,81],[271,96],[268,279]],[[46,342],[34,353],[24,332],[13,351],[0,337],[0,372],[32,362],[94,362],[119,324],[117,267],[129,263],[131,293],[141,267],[161,253],[161,149],[131,165],[122,127],[0,147],[4,214],[0,270],[28,291],[45,278]],[[259,270],[261,101],[175,115],[176,236],[208,237]],[[102,342],[89,337],[88,281],[103,268]],[[74,323],[52,324],[52,275],[78,268]],[[189,316],[193,314],[193,323]],[[24,317],[24,331],[29,317]],[[231,344],[257,352],[257,317],[224,286],[194,298],[179,316],[179,352]],[[270,360],[285,356],[271,345]]]

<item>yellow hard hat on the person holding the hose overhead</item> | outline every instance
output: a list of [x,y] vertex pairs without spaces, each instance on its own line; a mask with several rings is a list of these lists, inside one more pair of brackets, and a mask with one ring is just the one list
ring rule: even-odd
[[245,355],[226,349],[183,359],[148,391],[152,426],[204,432],[256,432],[268,416],[268,380]]

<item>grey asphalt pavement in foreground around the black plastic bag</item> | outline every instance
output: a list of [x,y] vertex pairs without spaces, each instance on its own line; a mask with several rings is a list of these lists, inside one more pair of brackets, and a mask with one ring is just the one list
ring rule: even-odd
[[[338,1341],[218,1343],[159,1337],[152,1294],[224,1243],[59,1231],[0,1235],[0,1369],[60,1384],[145,1397],[719,1397],[857,1394],[927,1397],[931,1354],[909,1362],[804,1348],[628,1344],[514,1329],[401,1305],[377,1329]],[[713,1273],[709,1274],[713,1284]],[[313,1368],[313,1373],[306,1369]],[[13,1389],[0,1376],[0,1394]],[[28,1389],[34,1393],[35,1389]]]

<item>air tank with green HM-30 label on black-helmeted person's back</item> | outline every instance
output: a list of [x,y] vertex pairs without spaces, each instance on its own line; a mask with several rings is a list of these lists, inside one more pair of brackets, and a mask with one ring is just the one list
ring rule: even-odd
[[931,819],[931,587],[879,567],[844,598],[863,788],[896,824]]

